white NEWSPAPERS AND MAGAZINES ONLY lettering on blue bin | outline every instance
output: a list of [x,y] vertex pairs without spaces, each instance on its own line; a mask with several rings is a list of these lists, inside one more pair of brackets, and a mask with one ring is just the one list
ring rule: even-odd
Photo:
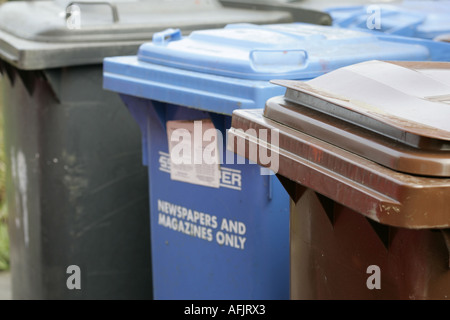
[[158,225],[220,246],[245,249],[247,226],[242,221],[186,208],[158,199]]

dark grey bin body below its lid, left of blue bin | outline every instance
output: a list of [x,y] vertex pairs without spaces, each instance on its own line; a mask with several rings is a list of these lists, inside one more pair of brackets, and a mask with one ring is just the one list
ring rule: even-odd
[[[102,91],[99,66],[3,67],[13,297],[151,299],[139,127]],[[71,265],[81,290],[66,286]]]

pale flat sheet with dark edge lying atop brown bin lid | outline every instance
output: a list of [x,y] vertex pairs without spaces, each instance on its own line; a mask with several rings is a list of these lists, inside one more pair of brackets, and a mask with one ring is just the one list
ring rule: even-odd
[[274,83],[288,88],[288,101],[413,147],[449,150],[449,75],[446,63],[413,68],[368,61],[306,82]]

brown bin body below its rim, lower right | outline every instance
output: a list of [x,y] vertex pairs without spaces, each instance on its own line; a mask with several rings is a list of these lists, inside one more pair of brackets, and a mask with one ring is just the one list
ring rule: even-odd
[[386,226],[307,189],[291,205],[291,299],[448,300],[448,240],[448,229]]

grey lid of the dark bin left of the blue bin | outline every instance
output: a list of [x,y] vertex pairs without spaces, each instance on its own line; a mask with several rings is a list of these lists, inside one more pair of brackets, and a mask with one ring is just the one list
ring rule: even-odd
[[154,32],[231,23],[292,22],[286,11],[225,8],[216,0],[14,1],[0,6],[0,58],[23,70],[136,54]]

